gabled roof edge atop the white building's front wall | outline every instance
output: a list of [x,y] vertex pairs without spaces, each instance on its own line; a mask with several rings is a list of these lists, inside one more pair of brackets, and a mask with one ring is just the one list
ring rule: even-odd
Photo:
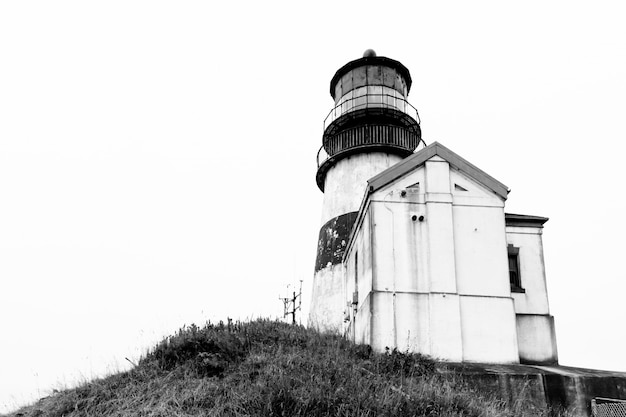
[[496,193],[503,200],[506,200],[509,193],[509,188],[506,185],[461,158],[459,155],[455,154],[439,142],[433,142],[419,152],[414,153],[413,155],[398,162],[396,165],[371,178],[367,181],[368,192],[373,193],[374,191],[381,189],[387,184],[390,184],[415,168],[423,165],[427,160],[435,155],[445,159],[450,166],[463,172],[468,177]]

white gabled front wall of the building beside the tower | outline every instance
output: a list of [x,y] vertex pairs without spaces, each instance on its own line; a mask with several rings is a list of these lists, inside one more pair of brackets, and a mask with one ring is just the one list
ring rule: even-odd
[[372,288],[359,300],[373,301],[358,309],[370,310],[374,349],[519,361],[503,206],[438,156],[369,196],[372,235],[359,244],[372,247]]

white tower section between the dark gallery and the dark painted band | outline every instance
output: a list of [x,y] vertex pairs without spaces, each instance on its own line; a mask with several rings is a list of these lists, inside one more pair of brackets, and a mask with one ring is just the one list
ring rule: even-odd
[[401,160],[401,157],[385,152],[367,152],[337,162],[326,174],[321,224],[341,214],[357,211],[367,180]]

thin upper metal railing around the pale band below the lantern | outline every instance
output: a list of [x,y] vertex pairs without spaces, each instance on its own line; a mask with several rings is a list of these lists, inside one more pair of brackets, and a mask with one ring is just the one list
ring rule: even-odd
[[340,116],[361,109],[394,109],[401,111],[420,123],[417,109],[403,97],[391,94],[366,93],[356,97],[345,99],[337,104],[324,119],[324,131]]

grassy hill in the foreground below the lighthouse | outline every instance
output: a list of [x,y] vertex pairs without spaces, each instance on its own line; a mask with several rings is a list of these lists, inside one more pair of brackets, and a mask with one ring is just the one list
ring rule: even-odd
[[130,371],[11,416],[531,416],[438,374],[435,362],[256,320],[192,325]]

